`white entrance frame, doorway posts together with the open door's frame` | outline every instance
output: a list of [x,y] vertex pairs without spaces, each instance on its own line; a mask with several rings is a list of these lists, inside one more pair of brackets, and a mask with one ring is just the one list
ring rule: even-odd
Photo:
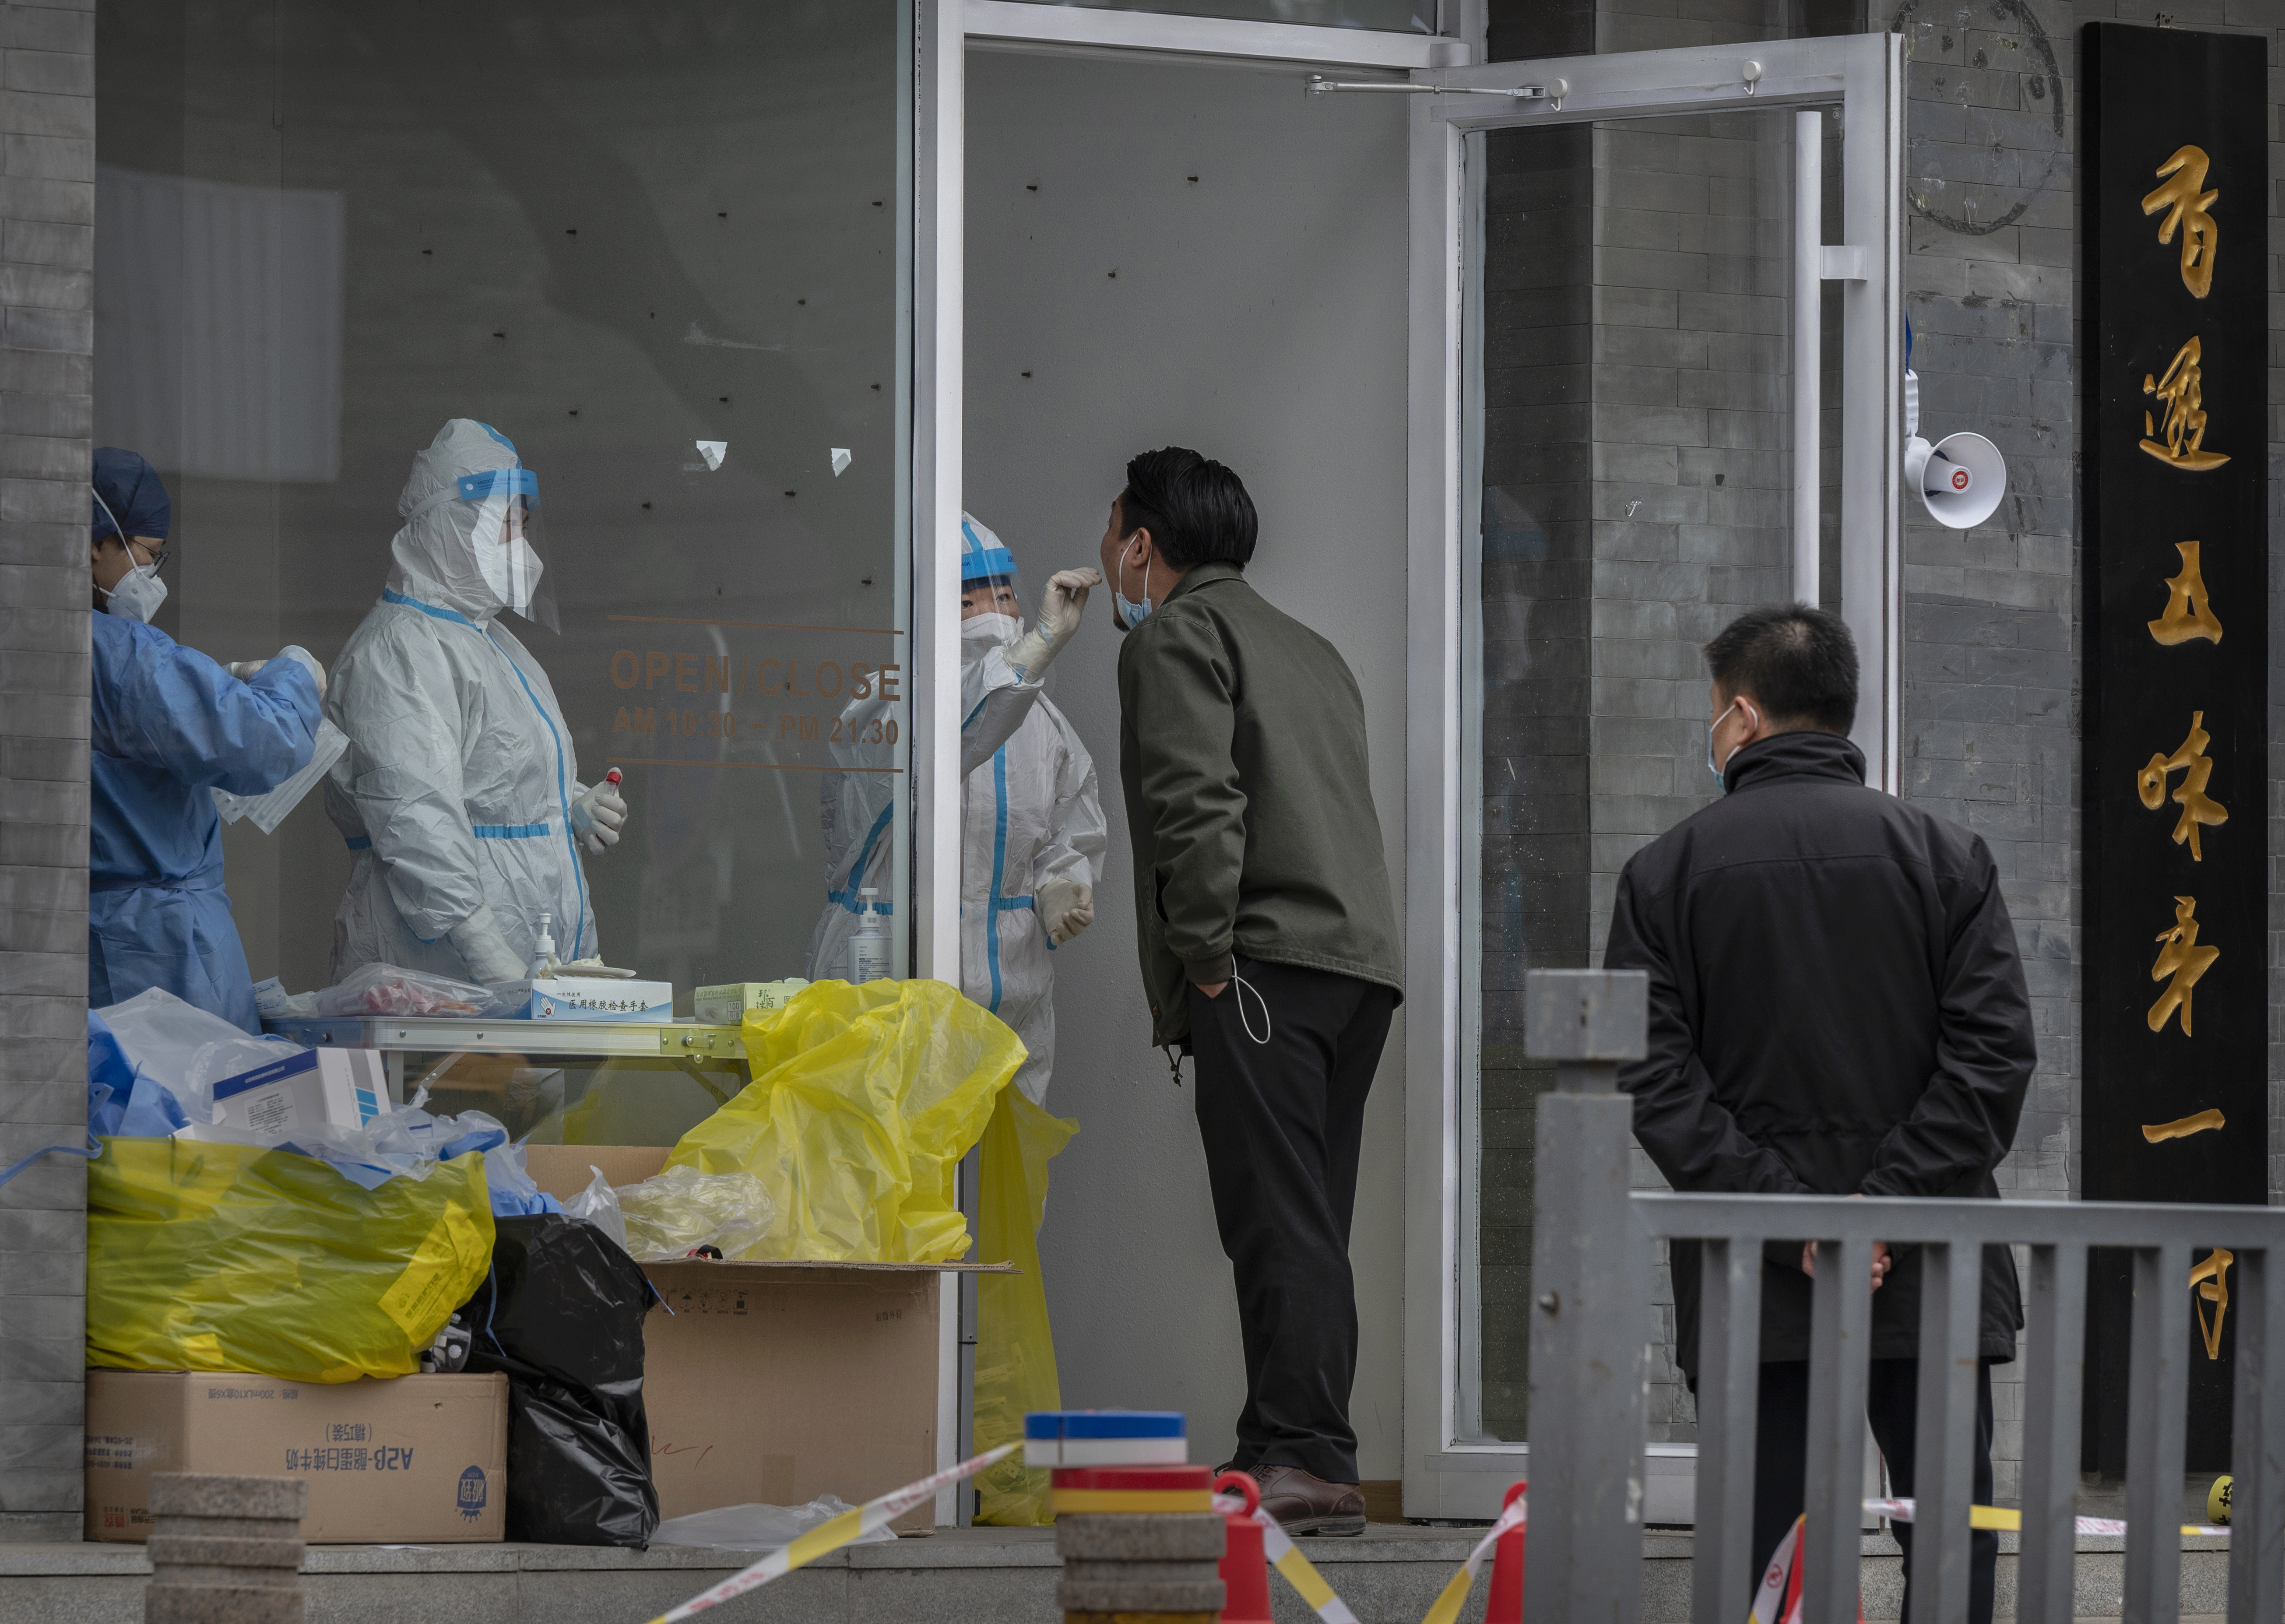
[[[1462,806],[1462,544],[1474,507],[1462,491],[1467,429],[1462,331],[1469,192],[1462,139],[1494,126],[1702,112],[1739,105],[1844,110],[1844,238],[1860,256],[1844,299],[1842,601],[1865,665],[1858,742],[1878,786],[1897,786],[1903,308],[1903,50],[1899,37],[1766,41],[1741,48],[1622,53],[1467,66],[1481,55],[1481,0],[1444,0],[1446,37],[1289,23],[1236,23],[1035,5],[914,0],[914,270],[912,270],[912,975],[957,982],[960,964],[960,566],[964,381],[964,53],[1165,53],[1318,64],[1330,73],[1410,73],[1453,89],[1561,85],[1561,98],[1417,94],[1412,105],[1412,270],[1408,363],[1408,797],[1405,797],[1405,1512],[1490,1517],[1524,1471],[1522,1446],[1465,1439],[1458,1421],[1460,1224],[1460,952]],[[1755,64],[1753,78],[1746,66]],[[1748,101],[1750,98],[1750,101]],[[1833,274],[1833,272],[1828,272]],[[1874,384],[1858,386],[1858,379]],[[1474,909],[1467,909],[1469,914]],[[937,1460],[957,1460],[967,1396],[960,1380],[960,1293],[946,1277]],[[1693,1450],[1666,1476],[1652,1462],[1650,1514],[1689,1517]],[[1661,1482],[1668,1492],[1661,1494]],[[1679,1496],[1673,1492],[1679,1482]],[[1668,1505],[1661,1505],[1668,1503]],[[964,1494],[937,1498],[937,1521],[964,1521]],[[1661,1514],[1666,1512],[1666,1514]]]

